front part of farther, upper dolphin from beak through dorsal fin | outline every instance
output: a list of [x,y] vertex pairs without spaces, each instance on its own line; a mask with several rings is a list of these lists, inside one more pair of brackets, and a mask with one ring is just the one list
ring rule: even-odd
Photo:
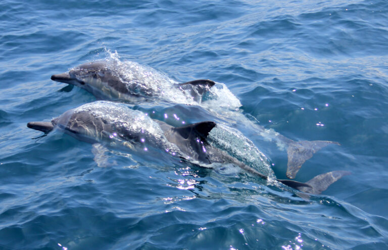
[[202,95],[215,85],[214,81],[206,79],[178,84],[169,78],[164,80],[161,77],[153,77],[153,69],[135,63],[128,67],[130,70],[113,66],[106,61],[88,62],[70,69],[69,72],[54,74],[51,79],[85,89],[102,100],[131,103],[151,99],[198,102]]

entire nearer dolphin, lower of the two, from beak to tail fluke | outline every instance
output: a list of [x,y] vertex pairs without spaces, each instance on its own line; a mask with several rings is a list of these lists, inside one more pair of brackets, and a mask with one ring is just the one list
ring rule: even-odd
[[[233,157],[222,147],[218,147],[217,132],[213,133],[218,126],[212,121],[175,128],[123,104],[98,101],[68,110],[50,122],[28,122],[27,127],[44,133],[59,128],[82,141],[120,145],[135,151],[158,148],[194,164],[209,166],[213,163],[231,163],[265,180],[272,180],[274,177],[266,157],[256,147],[251,148],[257,152],[259,170],[247,164],[250,159]],[[250,142],[241,136],[237,138]],[[302,192],[319,194],[347,174],[345,171],[333,171],[319,175],[307,183],[277,181]]]

